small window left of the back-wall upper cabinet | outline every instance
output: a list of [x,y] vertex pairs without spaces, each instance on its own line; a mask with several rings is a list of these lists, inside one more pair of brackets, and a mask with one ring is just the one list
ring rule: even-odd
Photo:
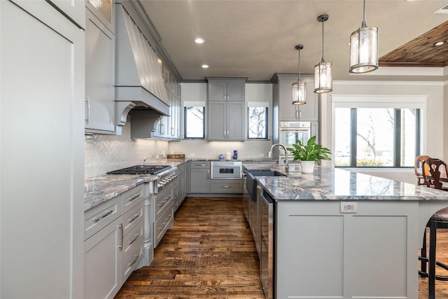
[[205,107],[185,106],[183,108],[183,138],[205,139]]

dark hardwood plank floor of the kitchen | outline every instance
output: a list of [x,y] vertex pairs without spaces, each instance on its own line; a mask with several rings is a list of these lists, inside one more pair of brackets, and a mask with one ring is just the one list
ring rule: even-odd
[[[448,263],[448,230],[437,234],[437,260]],[[241,197],[187,197],[153,263],[134,271],[116,298],[264,299]],[[427,279],[419,277],[419,299],[426,298]],[[436,298],[448,298],[448,281],[436,281]]]

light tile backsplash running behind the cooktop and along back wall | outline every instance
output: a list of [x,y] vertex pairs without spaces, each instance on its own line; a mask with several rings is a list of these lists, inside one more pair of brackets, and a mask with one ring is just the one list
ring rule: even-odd
[[272,145],[267,141],[204,141],[182,140],[162,141],[154,139],[131,139],[130,123],[123,127],[122,135],[92,135],[84,141],[85,179],[111,170],[139,165],[143,158],[146,163],[164,158],[168,153],[184,153],[187,159],[218,159],[220,153],[238,151],[240,160],[267,158]]

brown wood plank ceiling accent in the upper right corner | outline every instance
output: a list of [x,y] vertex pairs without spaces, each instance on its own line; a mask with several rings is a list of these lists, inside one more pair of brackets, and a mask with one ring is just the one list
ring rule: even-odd
[[[442,46],[434,46],[444,41]],[[448,21],[379,58],[380,67],[446,67]]]

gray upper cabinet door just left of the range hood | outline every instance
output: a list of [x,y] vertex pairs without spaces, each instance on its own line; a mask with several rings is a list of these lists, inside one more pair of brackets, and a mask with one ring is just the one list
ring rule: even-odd
[[86,10],[85,129],[114,132],[115,37]]

